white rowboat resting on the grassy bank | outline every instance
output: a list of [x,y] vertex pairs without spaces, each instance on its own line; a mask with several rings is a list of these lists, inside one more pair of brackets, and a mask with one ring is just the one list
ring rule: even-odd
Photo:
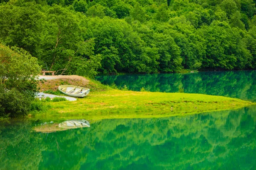
[[75,85],[60,85],[58,89],[62,93],[73,97],[84,97],[90,92],[89,88],[82,88]]

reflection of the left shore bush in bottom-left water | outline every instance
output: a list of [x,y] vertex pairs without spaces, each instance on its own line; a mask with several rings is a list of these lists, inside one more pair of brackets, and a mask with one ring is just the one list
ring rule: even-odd
[[46,146],[31,133],[31,122],[0,123],[0,169],[37,170]]

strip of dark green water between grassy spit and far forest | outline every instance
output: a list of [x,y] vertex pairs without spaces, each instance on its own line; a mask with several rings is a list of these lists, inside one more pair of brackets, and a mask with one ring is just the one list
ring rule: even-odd
[[211,71],[189,74],[131,74],[97,76],[103,84],[113,82],[133,91],[144,87],[147,91],[177,92],[228,96],[256,101],[256,71]]

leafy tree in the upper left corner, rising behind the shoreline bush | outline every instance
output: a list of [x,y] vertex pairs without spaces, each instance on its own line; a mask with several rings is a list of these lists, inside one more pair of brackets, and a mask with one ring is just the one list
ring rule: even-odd
[[0,39],[6,45],[23,48],[35,55],[43,18],[44,15],[33,3],[25,3],[21,7],[0,6]]

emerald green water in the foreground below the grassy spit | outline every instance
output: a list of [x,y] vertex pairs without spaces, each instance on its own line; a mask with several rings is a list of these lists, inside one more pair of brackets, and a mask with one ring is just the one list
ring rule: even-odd
[[0,126],[0,169],[256,169],[256,106],[163,119],[109,119],[89,128]]

